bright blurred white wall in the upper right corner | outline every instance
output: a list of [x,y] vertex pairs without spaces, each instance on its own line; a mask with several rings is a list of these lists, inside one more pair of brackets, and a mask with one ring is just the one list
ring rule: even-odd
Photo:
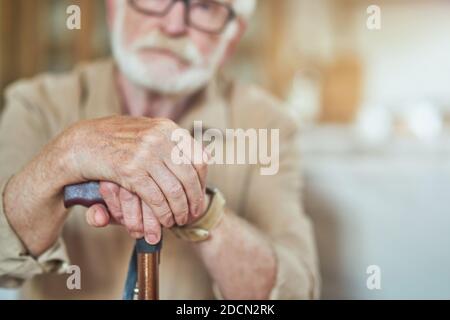
[[[377,2],[382,29],[370,31],[366,8]],[[353,11],[364,100],[395,105],[425,98],[450,108],[450,1],[359,1]]]

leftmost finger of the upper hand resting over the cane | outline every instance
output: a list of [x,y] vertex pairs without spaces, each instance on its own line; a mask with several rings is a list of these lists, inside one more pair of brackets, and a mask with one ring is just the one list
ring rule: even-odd
[[162,193],[156,182],[150,177],[135,178],[132,183],[139,196],[153,211],[159,222],[166,228],[171,228],[175,224],[172,210],[167,203],[166,197]]

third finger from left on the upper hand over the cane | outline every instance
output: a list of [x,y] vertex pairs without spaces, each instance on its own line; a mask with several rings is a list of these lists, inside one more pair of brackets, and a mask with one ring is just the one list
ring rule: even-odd
[[180,181],[185,191],[189,212],[192,217],[201,215],[203,203],[203,189],[198,174],[191,164],[174,164],[170,159],[165,159],[165,164],[171,173]]

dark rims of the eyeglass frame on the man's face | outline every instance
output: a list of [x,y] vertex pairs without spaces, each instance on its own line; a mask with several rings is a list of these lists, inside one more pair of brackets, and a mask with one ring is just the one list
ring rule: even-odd
[[209,30],[205,30],[204,28],[201,28],[199,26],[196,26],[195,24],[192,24],[190,19],[189,19],[189,10],[190,10],[190,4],[191,4],[191,0],[171,0],[172,3],[167,7],[167,9],[165,9],[163,12],[161,13],[155,13],[152,12],[150,13],[148,10],[142,9],[141,7],[139,7],[136,2],[138,0],[128,0],[128,4],[137,12],[144,14],[146,16],[152,16],[152,17],[159,17],[162,18],[164,16],[166,16],[167,14],[169,14],[170,10],[172,10],[173,6],[177,3],[177,2],[183,2],[186,6],[186,11],[184,14],[184,23],[188,26],[188,27],[192,27],[200,32],[204,32],[204,33],[208,33],[208,34],[212,34],[212,35],[219,35],[221,34],[225,28],[227,27],[227,25],[233,21],[234,19],[236,19],[237,14],[236,11],[233,9],[233,7],[228,4],[228,3],[223,3],[220,1],[216,1],[216,0],[207,0],[207,2],[213,2],[215,4],[220,4],[221,6],[223,6],[225,9],[227,9],[228,11],[228,17],[225,20],[223,26],[217,30],[217,31],[209,31]]

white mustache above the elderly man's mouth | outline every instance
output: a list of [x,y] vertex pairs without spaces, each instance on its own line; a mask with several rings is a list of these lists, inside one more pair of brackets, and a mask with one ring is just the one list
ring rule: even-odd
[[153,32],[147,36],[143,36],[131,45],[132,51],[139,51],[142,49],[167,50],[173,52],[192,65],[198,66],[203,62],[200,51],[192,41],[186,38],[169,38],[162,35],[160,32]]

